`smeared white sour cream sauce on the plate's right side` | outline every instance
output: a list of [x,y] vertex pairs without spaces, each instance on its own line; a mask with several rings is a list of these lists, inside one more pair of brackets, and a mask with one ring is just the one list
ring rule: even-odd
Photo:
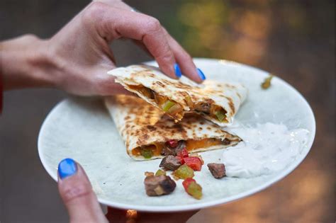
[[288,130],[267,122],[257,127],[234,127],[243,142],[223,151],[226,176],[252,178],[269,175],[289,166],[306,147],[309,131]]

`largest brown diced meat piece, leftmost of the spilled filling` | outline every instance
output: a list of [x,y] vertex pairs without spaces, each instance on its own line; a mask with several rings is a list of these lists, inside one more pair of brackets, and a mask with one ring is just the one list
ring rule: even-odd
[[145,178],[145,190],[148,196],[160,196],[172,193],[177,184],[169,176],[147,176]]

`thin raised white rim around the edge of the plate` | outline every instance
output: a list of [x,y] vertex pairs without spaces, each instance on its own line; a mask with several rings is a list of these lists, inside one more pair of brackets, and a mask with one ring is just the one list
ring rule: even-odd
[[[236,66],[240,66],[240,67],[245,67],[248,69],[254,69],[257,72],[262,72],[265,74],[269,74],[269,72],[266,72],[262,69],[259,69],[257,67],[252,67],[250,65],[247,64],[241,64],[238,62],[234,62],[234,61],[230,61],[230,60],[226,60],[226,59],[213,59],[213,58],[203,58],[203,57],[194,57],[193,58],[194,61],[211,61],[211,62],[220,62],[223,64],[235,64]],[[150,64],[153,63],[155,61],[149,61],[149,62],[143,62],[145,64]],[[188,204],[188,205],[174,205],[174,206],[148,206],[148,205],[129,205],[129,204],[124,204],[121,202],[113,202],[110,200],[106,200],[106,199],[102,199],[99,198],[99,196],[97,195],[97,198],[99,200],[99,202],[103,205],[108,205],[110,207],[116,207],[116,208],[120,208],[120,209],[124,209],[124,210],[128,210],[128,209],[132,209],[132,210],[138,210],[138,211],[142,211],[142,212],[184,212],[184,211],[189,211],[189,210],[200,210],[203,208],[208,208],[208,207],[213,207],[216,205],[224,205],[228,202],[233,202],[236,200],[240,200],[242,198],[247,198],[251,195],[254,195],[255,193],[258,193],[262,190],[264,190],[265,188],[268,188],[269,186],[273,185],[274,183],[277,183],[279,181],[281,181],[283,178],[285,178],[286,176],[288,176],[291,172],[293,172],[303,161],[304,159],[306,159],[306,156],[308,155],[308,153],[310,152],[310,150],[313,147],[313,142],[315,139],[315,133],[316,133],[316,121],[315,121],[315,115],[313,113],[313,109],[310,107],[308,101],[306,100],[306,98],[304,98],[302,96],[302,94],[293,86],[291,86],[291,84],[287,83],[286,81],[284,81],[283,79],[281,79],[279,76],[276,76],[276,79],[278,79],[281,84],[284,84],[286,87],[291,88],[291,90],[295,91],[298,96],[303,99],[303,102],[305,104],[305,106],[308,108],[308,111],[310,113],[310,117],[312,118],[310,121],[312,122],[312,130],[310,132],[310,137],[309,137],[309,144],[307,144],[308,149],[305,151],[304,154],[301,154],[301,159],[296,159],[290,166],[288,166],[287,168],[285,168],[284,171],[282,171],[281,173],[279,173],[278,175],[276,175],[274,178],[271,178],[269,181],[262,183],[261,185],[252,188],[250,190],[246,190],[242,193],[238,193],[237,195],[232,195],[232,196],[228,196],[225,198],[220,198],[217,200],[212,200],[212,201],[208,201],[208,202],[200,202],[200,203],[196,203],[196,204]],[[38,133],[38,156],[40,158],[40,161],[43,165],[43,168],[45,168],[45,171],[47,171],[47,173],[49,174],[49,176],[54,179],[54,181],[57,182],[57,171],[50,169],[47,166],[47,161],[45,160],[44,156],[43,156],[43,151],[42,151],[42,142],[41,142],[41,135],[43,135],[43,130],[45,129],[45,125],[47,125],[47,121],[50,119],[51,114],[65,101],[69,100],[68,98],[63,99],[62,101],[58,102],[53,108],[52,110],[50,110],[50,112],[47,114],[47,116],[45,117],[45,120],[43,120],[43,124],[40,127],[40,131]],[[56,172],[56,174],[55,174]]]

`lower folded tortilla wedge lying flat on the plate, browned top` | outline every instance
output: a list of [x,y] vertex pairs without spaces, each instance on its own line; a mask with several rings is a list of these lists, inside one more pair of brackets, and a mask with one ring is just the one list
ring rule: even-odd
[[183,120],[174,122],[134,96],[108,97],[105,104],[133,159],[176,155],[184,147],[191,153],[221,149],[241,141],[200,115],[186,114]]

